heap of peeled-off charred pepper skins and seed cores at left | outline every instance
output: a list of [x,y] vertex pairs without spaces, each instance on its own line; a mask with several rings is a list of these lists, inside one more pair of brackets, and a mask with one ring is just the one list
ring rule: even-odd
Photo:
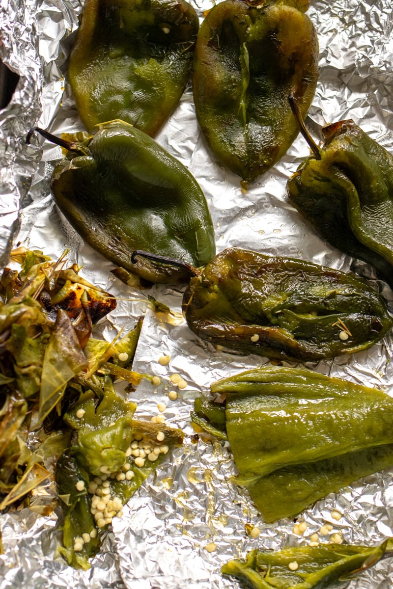
[[65,267],[64,256],[52,262],[19,248],[12,259],[21,271],[6,268],[0,281],[0,511],[27,498],[48,514],[55,504],[34,506],[29,492],[54,476],[59,552],[88,568],[102,532],[183,433],[134,418],[136,403],[114,388],[115,379],[132,391],[151,378],[131,369],[141,320],[112,343],[95,339],[113,296],[78,276],[76,264]]

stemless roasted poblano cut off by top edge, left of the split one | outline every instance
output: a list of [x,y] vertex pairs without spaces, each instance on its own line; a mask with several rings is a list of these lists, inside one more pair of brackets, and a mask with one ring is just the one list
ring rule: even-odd
[[198,29],[185,0],[87,0],[68,68],[87,130],[120,118],[154,137],[189,80]]

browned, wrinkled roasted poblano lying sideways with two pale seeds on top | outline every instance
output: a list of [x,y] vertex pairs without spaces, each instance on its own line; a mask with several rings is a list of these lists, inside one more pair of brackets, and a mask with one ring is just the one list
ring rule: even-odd
[[236,248],[191,279],[183,312],[213,345],[295,361],[369,348],[392,327],[382,297],[354,274]]

